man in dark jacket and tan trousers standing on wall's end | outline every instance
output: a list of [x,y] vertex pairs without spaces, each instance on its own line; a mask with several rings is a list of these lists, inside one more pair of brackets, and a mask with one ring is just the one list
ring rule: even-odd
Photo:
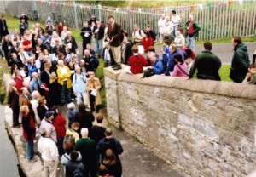
[[110,48],[113,52],[115,65],[113,70],[122,69],[121,66],[121,26],[114,21],[113,15],[108,15],[108,33],[107,40],[110,43]]

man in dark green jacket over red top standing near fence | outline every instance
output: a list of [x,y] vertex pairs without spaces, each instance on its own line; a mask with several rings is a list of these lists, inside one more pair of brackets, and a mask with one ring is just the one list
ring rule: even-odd
[[201,30],[201,27],[193,20],[193,16],[189,14],[189,21],[186,22],[187,29],[187,43],[189,49],[195,51],[195,38],[198,37],[198,31]]

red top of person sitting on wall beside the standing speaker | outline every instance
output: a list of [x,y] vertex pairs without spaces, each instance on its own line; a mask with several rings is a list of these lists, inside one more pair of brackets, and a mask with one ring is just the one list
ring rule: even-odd
[[131,73],[138,74],[143,72],[143,66],[148,66],[148,62],[141,54],[132,55],[128,60],[128,66],[131,66]]

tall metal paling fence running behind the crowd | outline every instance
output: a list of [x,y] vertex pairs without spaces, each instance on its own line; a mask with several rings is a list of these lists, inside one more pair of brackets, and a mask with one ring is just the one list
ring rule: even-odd
[[[231,3],[230,3],[231,2]],[[142,29],[146,25],[158,32],[158,20],[161,13],[171,16],[172,9],[182,18],[181,26],[188,20],[189,14],[193,14],[197,23],[201,26],[199,39],[212,40],[239,35],[250,37],[255,35],[256,2],[252,0],[238,1],[212,1],[201,4],[179,5],[175,7],[161,7],[160,9],[139,8],[113,8],[98,5],[84,5],[72,2],[45,2],[45,1],[3,1],[0,3],[0,11],[19,16],[28,9],[37,10],[39,19],[44,21],[52,13],[61,15],[67,26],[80,28],[84,20],[90,20],[91,15],[105,22],[108,14],[113,14],[122,29],[131,35],[133,24],[138,24]]]

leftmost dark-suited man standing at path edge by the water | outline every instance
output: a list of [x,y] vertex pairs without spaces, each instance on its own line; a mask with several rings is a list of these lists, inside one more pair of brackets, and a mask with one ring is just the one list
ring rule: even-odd
[[8,105],[13,110],[13,127],[20,128],[19,94],[18,94],[17,88],[15,88],[15,85],[16,85],[15,81],[11,80],[9,85],[9,92],[8,92]]

